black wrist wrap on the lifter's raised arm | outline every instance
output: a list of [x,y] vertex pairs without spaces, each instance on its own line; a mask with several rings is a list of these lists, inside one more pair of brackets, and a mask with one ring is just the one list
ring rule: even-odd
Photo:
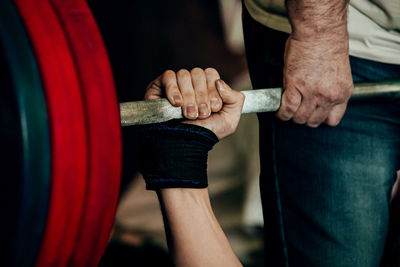
[[210,130],[178,121],[142,126],[141,172],[148,190],[205,188],[208,151],[218,142]]

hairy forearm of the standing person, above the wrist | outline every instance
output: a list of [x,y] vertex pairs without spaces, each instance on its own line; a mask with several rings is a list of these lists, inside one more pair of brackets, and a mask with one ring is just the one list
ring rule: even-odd
[[347,38],[349,0],[286,0],[292,37],[298,40]]

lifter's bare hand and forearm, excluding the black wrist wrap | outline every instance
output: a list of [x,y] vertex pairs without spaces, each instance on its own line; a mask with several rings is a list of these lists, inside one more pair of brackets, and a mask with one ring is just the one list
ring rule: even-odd
[[[219,140],[238,126],[244,95],[220,80],[215,69],[166,71],[150,83],[145,99],[160,98],[164,92],[173,105],[182,107],[188,119],[184,123],[207,128]],[[182,166],[178,162],[175,168]],[[214,216],[207,188],[161,187],[157,195],[176,266],[242,266]]]

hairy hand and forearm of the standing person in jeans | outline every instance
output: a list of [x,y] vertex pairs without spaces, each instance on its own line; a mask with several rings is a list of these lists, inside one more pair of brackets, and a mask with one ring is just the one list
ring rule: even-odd
[[282,105],[277,116],[299,124],[336,126],[353,92],[347,1],[289,0]]

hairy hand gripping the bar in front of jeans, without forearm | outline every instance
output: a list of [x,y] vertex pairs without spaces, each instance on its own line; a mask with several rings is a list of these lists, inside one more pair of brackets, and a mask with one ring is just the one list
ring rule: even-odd
[[[334,37],[334,36],[332,36]],[[277,116],[299,124],[336,126],[353,92],[347,39],[286,42],[285,91]]]

